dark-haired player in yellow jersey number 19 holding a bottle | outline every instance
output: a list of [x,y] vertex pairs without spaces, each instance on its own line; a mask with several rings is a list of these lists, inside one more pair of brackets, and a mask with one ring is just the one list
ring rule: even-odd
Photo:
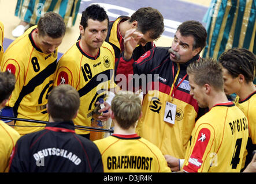
[[[74,119],[75,125],[91,126],[92,110],[99,98],[106,99],[110,81],[114,78],[114,50],[105,42],[108,24],[109,17],[101,6],[88,6],[79,25],[81,39],[58,62],[54,86],[69,84],[80,95],[81,105]],[[110,109],[109,104],[104,102],[104,105],[101,112]],[[100,118],[106,121],[108,117],[110,112],[103,113]],[[76,129],[76,133],[90,137],[90,131]]]

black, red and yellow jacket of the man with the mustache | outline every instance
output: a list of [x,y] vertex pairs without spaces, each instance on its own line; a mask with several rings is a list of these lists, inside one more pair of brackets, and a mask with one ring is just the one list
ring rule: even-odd
[[[168,49],[155,47],[137,61],[132,59],[128,62],[121,57],[116,63],[116,74],[124,74],[128,82],[129,74],[135,74],[135,88],[138,87],[138,78],[142,80],[140,89],[146,95],[142,104],[143,117],[138,121],[136,129],[139,136],[157,145],[164,155],[184,159],[195,119],[204,110],[199,108],[190,95],[186,71],[191,62],[199,59],[199,55],[187,63],[179,64],[170,60]],[[171,111],[172,123],[164,120],[167,103],[176,106]]]

